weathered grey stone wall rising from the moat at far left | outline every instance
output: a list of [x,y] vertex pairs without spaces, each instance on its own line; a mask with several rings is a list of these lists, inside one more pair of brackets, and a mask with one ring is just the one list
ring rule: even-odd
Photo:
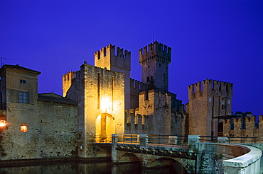
[[[38,110],[31,111],[11,108],[1,132],[1,160],[77,156],[76,106],[44,101],[37,105]],[[21,132],[21,125],[28,131]]]

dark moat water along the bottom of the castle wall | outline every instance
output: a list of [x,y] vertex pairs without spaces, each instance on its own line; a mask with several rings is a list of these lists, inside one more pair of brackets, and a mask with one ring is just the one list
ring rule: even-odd
[[181,166],[169,166],[163,168],[146,169],[141,164],[125,164],[114,166],[112,163],[54,163],[35,166],[14,166],[0,168],[1,174],[185,174]]

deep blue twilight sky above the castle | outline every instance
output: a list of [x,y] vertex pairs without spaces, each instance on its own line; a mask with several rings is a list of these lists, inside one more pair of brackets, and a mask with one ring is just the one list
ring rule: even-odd
[[232,110],[263,115],[263,1],[0,0],[0,57],[41,71],[39,93],[62,95],[62,76],[94,52],[116,45],[132,52],[141,80],[139,49],[172,47],[169,90],[188,103],[192,83],[234,83]]

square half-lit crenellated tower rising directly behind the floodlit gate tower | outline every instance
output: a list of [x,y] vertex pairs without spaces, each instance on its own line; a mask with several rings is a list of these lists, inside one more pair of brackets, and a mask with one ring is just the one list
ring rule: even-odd
[[[117,54],[116,54],[117,53]],[[117,47],[115,52],[114,45],[102,47],[95,52],[95,66],[124,74],[125,91],[125,110],[130,109],[130,71],[131,71],[131,52],[124,51]]]

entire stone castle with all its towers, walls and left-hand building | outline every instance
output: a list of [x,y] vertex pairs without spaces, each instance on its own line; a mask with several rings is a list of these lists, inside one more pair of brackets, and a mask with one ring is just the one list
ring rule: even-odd
[[63,96],[38,94],[41,72],[2,66],[1,161],[107,157],[107,149],[92,145],[107,134],[262,134],[262,116],[257,122],[249,112],[232,115],[232,83],[206,79],[190,85],[183,105],[168,91],[170,63],[171,47],[146,45],[139,50],[142,73],[136,81],[130,78],[131,52],[109,44],[95,52],[95,66],[84,62],[63,75]]

